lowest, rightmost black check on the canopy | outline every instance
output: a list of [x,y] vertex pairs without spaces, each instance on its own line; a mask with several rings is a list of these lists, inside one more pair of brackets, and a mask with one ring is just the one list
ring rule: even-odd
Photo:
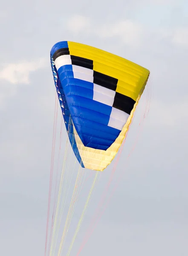
[[119,110],[122,110],[127,114],[130,114],[134,107],[135,102],[136,101],[131,99],[130,97],[116,92],[113,107],[118,108]]

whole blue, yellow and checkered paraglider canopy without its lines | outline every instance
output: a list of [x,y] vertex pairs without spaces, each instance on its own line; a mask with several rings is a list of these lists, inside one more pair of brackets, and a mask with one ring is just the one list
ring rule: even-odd
[[95,47],[70,41],[50,52],[72,149],[82,167],[103,171],[123,142],[149,70]]

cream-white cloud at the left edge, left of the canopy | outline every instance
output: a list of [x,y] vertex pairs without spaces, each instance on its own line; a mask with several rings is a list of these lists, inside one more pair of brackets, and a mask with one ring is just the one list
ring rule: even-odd
[[[1,90],[0,90],[0,107],[4,105],[6,100],[16,94],[19,84],[29,84],[29,74],[46,67],[46,60],[44,58],[35,61],[20,61],[17,63],[4,64],[0,71]],[[7,85],[8,83],[14,86]]]

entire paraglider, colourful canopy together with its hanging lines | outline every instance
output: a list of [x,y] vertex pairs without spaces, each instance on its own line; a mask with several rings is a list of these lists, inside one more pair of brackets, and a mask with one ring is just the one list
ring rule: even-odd
[[[78,256],[118,186],[117,182],[114,189],[109,193],[109,186],[119,161],[124,139],[132,123],[139,99],[145,90],[150,71],[104,50],[70,41],[61,41],[55,44],[51,49],[50,58],[57,94],[55,98],[45,256],[61,256],[62,252],[65,253],[67,249],[67,256],[70,255],[96,183],[101,175],[105,177],[104,175],[110,174],[106,186],[101,186],[104,191],[98,193],[100,200],[95,199],[97,208],[95,211],[92,210],[94,215],[78,253],[75,254],[74,252],[74,255]],[[57,95],[61,105],[61,129],[57,147],[57,164],[54,165],[54,159],[56,159],[56,125],[60,110],[60,108],[57,110]],[[152,96],[151,90],[148,90],[148,96]],[[146,100],[145,113],[140,119],[139,125],[147,116],[149,105],[150,99]],[[65,123],[67,130],[65,131],[67,141],[64,140],[65,137],[63,136],[65,148],[61,147],[63,123]],[[133,139],[137,141],[136,134],[134,136]],[[133,149],[134,147],[135,145],[133,145]],[[64,151],[62,163],[60,160],[61,148]],[[72,151],[78,160],[78,172],[74,171],[77,160],[75,158],[75,161],[72,161]],[[118,151],[119,154],[111,173],[101,174],[101,171],[110,165]],[[86,171],[84,168],[89,170]],[[54,169],[56,169],[55,177],[53,176]],[[119,175],[118,181],[122,177],[122,174],[119,173]],[[88,186],[83,186],[85,183],[90,184],[90,189]],[[73,188],[72,195],[69,194],[71,187]],[[82,190],[83,187],[84,190]],[[52,195],[54,195],[53,198]],[[75,218],[78,217],[78,223],[72,239],[69,240],[69,247],[65,248],[67,233],[68,231],[72,233],[70,224],[79,197],[82,198],[80,203],[83,204],[83,208],[81,207],[83,210],[81,213],[75,214]],[[79,209],[77,211],[79,212]],[[67,217],[65,218],[66,212]],[[61,228],[63,228],[63,232],[60,231]]]

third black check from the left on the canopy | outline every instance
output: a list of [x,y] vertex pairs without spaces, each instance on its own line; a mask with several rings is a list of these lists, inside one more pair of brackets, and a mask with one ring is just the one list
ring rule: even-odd
[[93,83],[106,87],[110,90],[116,90],[118,79],[93,71]]

